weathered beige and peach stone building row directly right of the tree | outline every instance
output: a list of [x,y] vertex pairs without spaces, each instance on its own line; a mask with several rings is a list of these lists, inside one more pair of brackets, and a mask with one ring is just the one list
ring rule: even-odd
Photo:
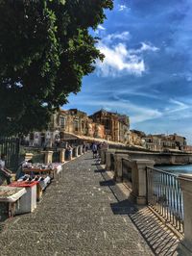
[[91,138],[105,139],[105,127],[95,123],[84,112],[77,109],[60,110],[51,117],[47,131],[29,134],[25,141],[31,146],[48,146],[64,141],[90,140]]

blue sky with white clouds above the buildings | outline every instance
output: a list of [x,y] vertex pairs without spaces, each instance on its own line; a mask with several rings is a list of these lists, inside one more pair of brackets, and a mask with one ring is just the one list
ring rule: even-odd
[[192,143],[191,0],[116,0],[107,16],[94,32],[105,61],[63,108],[104,108],[129,115],[132,129]]

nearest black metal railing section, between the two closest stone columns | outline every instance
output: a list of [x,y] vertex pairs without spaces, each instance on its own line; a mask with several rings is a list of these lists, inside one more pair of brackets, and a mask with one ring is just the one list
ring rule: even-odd
[[162,218],[183,234],[183,201],[176,175],[147,167],[147,200]]

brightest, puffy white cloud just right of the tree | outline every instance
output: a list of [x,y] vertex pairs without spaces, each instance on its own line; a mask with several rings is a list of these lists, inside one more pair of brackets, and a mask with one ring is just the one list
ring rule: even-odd
[[141,75],[145,71],[144,61],[131,54],[124,43],[115,46],[100,42],[98,48],[105,55],[104,62],[98,61],[97,68],[102,76],[118,76],[120,74]]

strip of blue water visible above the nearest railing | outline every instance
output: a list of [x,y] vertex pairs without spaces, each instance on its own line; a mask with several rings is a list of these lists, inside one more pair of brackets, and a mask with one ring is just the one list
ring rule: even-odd
[[191,173],[192,174],[192,165],[184,166],[156,166],[158,169],[165,170],[167,172],[179,175],[180,173]]

